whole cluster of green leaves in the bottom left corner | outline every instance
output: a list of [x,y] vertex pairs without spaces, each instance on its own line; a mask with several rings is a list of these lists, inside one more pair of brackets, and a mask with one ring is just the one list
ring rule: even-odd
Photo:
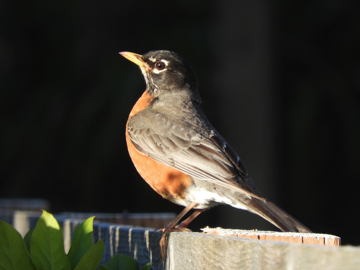
[[[96,270],[104,253],[104,241],[93,245],[93,217],[75,228],[69,252],[64,251],[63,231],[53,215],[43,210],[35,229],[24,239],[10,224],[0,220],[0,270]],[[139,269],[131,257],[117,254],[100,270]],[[142,270],[149,270],[150,264]]]

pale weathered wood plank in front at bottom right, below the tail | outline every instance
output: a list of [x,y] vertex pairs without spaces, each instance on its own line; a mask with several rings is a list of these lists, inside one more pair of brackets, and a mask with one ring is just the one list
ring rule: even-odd
[[359,269],[359,247],[170,233],[166,269]]

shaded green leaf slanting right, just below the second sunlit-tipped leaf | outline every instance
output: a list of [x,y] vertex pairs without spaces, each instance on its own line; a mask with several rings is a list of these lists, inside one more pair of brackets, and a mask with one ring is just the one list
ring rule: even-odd
[[80,262],[76,265],[75,270],[95,270],[100,264],[104,249],[104,240],[101,239],[86,252],[84,257],[82,257]]

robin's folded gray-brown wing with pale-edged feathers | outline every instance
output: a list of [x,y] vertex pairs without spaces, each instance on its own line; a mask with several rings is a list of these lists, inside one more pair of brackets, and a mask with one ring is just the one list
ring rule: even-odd
[[262,198],[239,157],[221,135],[214,130],[201,130],[191,122],[181,123],[147,110],[128,123],[129,137],[140,153],[197,179]]

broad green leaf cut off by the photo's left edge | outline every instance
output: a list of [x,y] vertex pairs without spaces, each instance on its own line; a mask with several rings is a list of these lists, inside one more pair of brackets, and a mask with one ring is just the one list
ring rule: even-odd
[[17,230],[0,220],[0,269],[34,269],[24,240]]

